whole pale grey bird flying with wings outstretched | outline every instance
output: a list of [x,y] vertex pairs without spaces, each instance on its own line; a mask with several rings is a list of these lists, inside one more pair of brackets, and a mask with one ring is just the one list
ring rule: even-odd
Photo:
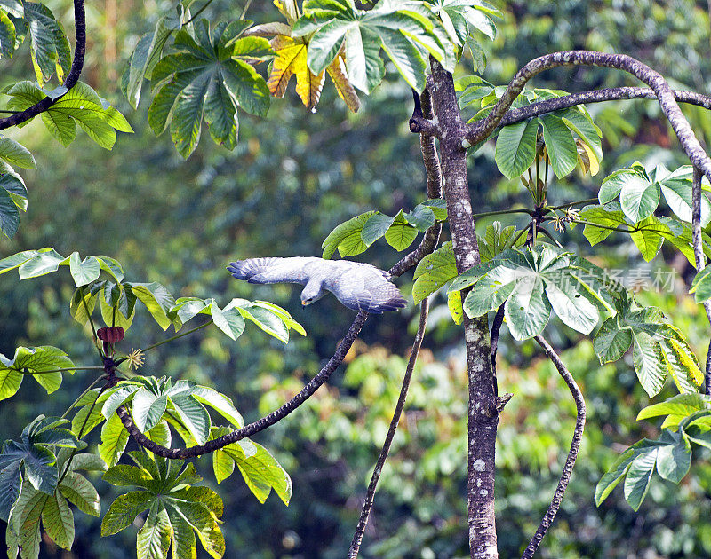
[[355,311],[381,314],[405,306],[400,290],[388,281],[390,274],[371,264],[349,260],[324,260],[316,256],[248,258],[228,266],[236,279],[250,283],[300,283],[301,304],[314,303],[331,291]]

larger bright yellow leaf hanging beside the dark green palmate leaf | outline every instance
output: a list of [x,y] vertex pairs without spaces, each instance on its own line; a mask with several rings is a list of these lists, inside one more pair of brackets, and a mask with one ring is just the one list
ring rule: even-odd
[[276,51],[272,73],[267,82],[271,94],[274,97],[284,97],[289,80],[292,75],[296,75],[296,92],[301,101],[309,110],[316,109],[324,87],[325,75],[323,72],[314,75],[308,69],[307,45],[297,43],[290,37],[278,35],[271,41],[271,46]]

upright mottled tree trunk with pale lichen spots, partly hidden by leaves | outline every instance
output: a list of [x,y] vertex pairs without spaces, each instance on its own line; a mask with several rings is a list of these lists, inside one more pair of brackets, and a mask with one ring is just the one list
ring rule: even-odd
[[[474,219],[467,183],[467,153],[462,147],[464,124],[451,74],[432,61],[432,102],[442,135],[440,154],[449,224],[457,271],[479,263]],[[486,317],[464,320],[469,376],[468,517],[472,559],[496,559],[494,517],[494,453],[499,405],[494,393]]]

